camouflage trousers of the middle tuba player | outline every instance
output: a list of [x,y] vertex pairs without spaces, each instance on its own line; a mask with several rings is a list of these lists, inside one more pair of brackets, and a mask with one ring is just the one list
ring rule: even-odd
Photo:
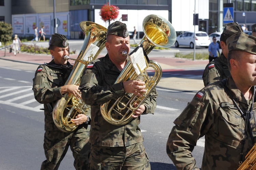
[[90,170],[150,170],[150,162],[142,142],[128,147],[91,145]]

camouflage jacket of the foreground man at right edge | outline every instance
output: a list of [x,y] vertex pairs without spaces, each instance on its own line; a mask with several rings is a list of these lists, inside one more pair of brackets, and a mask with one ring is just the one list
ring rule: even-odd
[[[252,100],[243,97],[231,76],[226,86],[241,111],[250,110]],[[241,151],[243,161],[255,142],[255,109],[256,103],[253,103],[253,114],[249,117],[254,141],[247,128],[243,147],[245,121],[229,98],[224,83],[218,81],[208,85],[195,95],[174,121],[175,126],[167,141],[168,156],[177,169],[196,169],[196,160],[191,153],[197,140],[205,136],[202,170],[237,169]]]

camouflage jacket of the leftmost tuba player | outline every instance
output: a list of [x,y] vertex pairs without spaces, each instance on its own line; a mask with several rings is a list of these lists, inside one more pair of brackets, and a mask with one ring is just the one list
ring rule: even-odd
[[[59,131],[53,121],[52,111],[58,99],[63,97],[60,87],[65,85],[73,66],[68,62],[67,66],[61,66],[54,63],[40,65],[35,72],[33,79],[33,91],[35,100],[44,104],[44,130]],[[82,124],[79,128],[88,125]]]

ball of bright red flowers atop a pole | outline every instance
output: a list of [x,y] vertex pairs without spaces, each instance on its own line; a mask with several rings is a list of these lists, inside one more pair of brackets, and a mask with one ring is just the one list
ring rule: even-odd
[[115,20],[119,15],[119,8],[115,5],[109,5],[109,3],[103,5],[100,9],[100,16],[104,22]]

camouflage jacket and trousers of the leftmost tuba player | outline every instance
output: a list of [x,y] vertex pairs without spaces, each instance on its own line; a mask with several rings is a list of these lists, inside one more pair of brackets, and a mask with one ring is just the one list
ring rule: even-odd
[[72,65],[61,66],[54,60],[45,65],[40,65],[33,79],[33,91],[35,99],[44,104],[45,134],[44,151],[46,160],[41,169],[58,169],[61,160],[68,151],[73,152],[75,169],[88,169],[89,128],[88,124],[79,125],[73,132],[60,131],[53,121],[53,107],[55,102],[62,96],[60,87],[65,84],[71,71]]

